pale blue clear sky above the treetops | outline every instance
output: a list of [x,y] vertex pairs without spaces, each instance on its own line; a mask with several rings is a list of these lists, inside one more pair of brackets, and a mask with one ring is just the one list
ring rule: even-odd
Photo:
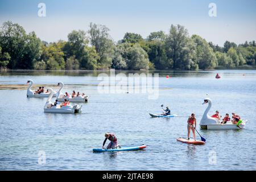
[[[40,2],[46,4],[46,17],[38,16]],[[208,15],[212,2],[217,17]],[[256,40],[256,0],[1,0],[0,23],[7,20],[47,42],[67,40],[69,32],[86,31],[90,22],[105,24],[115,41],[125,32],[143,38],[152,31],[168,32],[171,24],[181,24],[189,35],[198,34],[220,46],[225,40]]]

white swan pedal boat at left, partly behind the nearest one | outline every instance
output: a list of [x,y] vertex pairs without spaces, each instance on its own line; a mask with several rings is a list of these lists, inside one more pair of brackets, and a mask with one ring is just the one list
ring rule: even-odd
[[65,99],[69,100],[69,102],[88,102],[88,96],[78,96],[78,97],[65,97],[61,90],[63,90],[64,84],[63,82],[59,82],[58,86],[60,86],[59,91],[56,94],[57,100],[60,102],[64,102]]

